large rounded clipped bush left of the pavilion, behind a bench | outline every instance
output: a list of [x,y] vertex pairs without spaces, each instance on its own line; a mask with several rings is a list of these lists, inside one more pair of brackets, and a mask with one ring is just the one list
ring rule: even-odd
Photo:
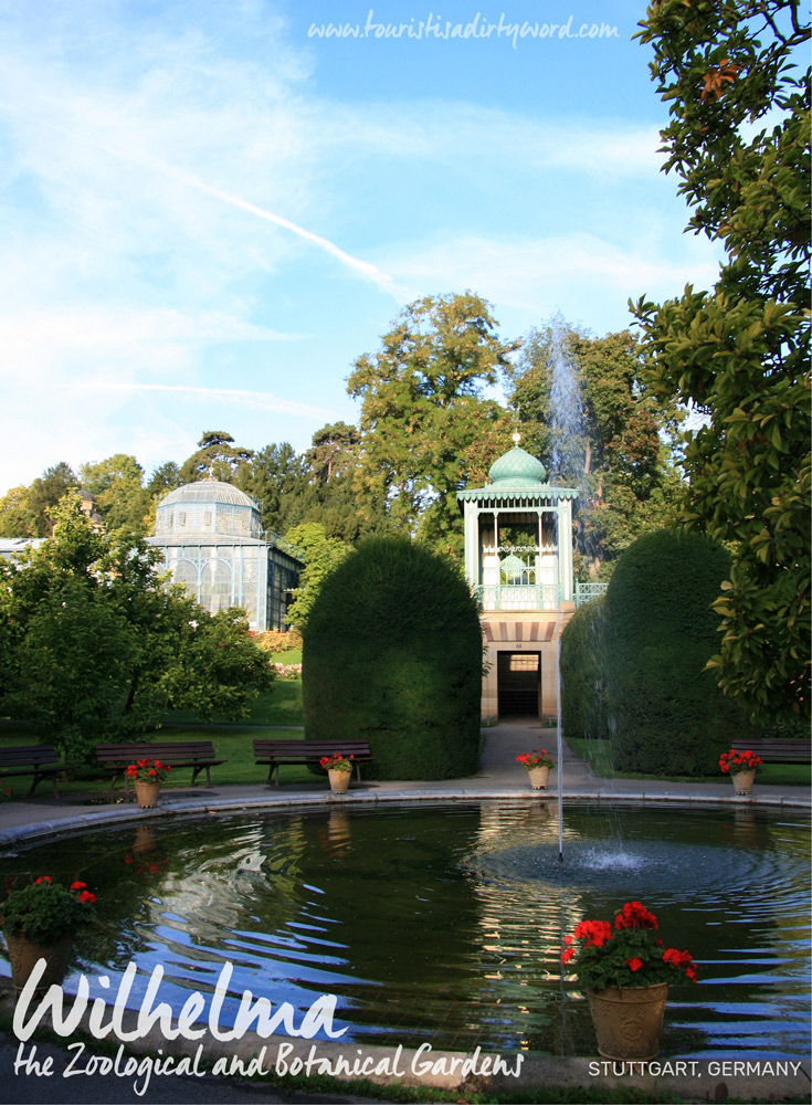
[[362,541],[324,581],[304,632],[309,739],[367,738],[380,779],[472,775],[482,630],[467,585],[401,538]]

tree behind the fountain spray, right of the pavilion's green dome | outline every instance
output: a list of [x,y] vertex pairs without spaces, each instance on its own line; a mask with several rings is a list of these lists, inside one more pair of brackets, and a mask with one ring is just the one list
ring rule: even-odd
[[[667,441],[681,413],[654,402],[645,360],[629,330],[591,338],[555,318],[530,332],[509,372],[524,448],[553,482],[581,491],[583,575],[608,575],[624,548],[663,525],[678,486]],[[563,413],[561,378],[576,391]]]

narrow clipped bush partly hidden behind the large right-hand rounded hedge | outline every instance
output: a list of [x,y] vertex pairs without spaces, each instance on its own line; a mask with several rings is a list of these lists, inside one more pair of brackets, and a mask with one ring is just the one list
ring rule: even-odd
[[577,610],[561,634],[561,724],[567,737],[607,737],[604,597]]

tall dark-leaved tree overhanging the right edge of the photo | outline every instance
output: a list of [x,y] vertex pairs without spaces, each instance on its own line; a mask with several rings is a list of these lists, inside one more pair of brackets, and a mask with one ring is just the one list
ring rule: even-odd
[[662,400],[694,403],[681,517],[734,546],[714,603],[723,690],[810,716],[810,27],[789,0],[658,0],[641,39],[671,104],[666,171],[724,244],[715,288],[635,307]]

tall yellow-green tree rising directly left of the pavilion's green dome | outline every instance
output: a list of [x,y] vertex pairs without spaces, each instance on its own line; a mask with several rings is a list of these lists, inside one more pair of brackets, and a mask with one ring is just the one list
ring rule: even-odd
[[483,455],[509,439],[504,409],[485,397],[515,345],[502,343],[479,296],[410,304],[375,356],[356,360],[347,390],[361,400],[357,484],[401,529],[462,549],[456,492],[483,480]]

